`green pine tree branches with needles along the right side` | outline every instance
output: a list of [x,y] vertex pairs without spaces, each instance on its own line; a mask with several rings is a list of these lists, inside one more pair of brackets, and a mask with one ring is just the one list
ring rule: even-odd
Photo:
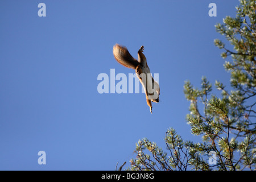
[[216,81],[219,98],[206,77],[200,89],[189,81],[184,84],[185,97],[191,102],[187,121],[202,142],[184,141],[170,128],[164,137],[167,151],[146,138],[139,140],[137,158],[130,160],[129,170],[255,170],[256,1],[241,0],[236,9],[236,18],[226,16],[223,24],[216,24],[234,51],[214,40],[224,50],[221,56],[229,60],[224,68],[230,73],[232,90]]

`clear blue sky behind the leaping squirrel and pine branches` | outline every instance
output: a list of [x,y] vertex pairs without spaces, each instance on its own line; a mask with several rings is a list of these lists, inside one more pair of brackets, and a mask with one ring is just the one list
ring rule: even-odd
[[[46,17],[38,16],[40,2]],[[208,15],[211,2],[216,17]],[[214,25],[234,16],[238,3],[0,1],[0,169],[114,170],[125,161],[127,167],[139,139],[166,148],[169,127],[199,141],[185,121],[184,81],[199,87],[207,76],[212,84],[229,83],[213,44],[224,37]],[[115,43],[135,58],[143,45],[151,72],[159,73],[153,114],[143,93],[97,92],[100,73],[134,73],[115,61]],[[38,164],[41,150],[46,165]]]

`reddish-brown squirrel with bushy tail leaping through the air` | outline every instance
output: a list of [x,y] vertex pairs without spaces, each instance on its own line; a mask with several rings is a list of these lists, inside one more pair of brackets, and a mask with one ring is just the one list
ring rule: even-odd
[[113,54],[119,64],[135,69],[135,73],[141,82],[146,94],[147,105],[150,107],[152,114],[152,102],[159,102],[160,88],[158,82],[154,80],[147,65],[147,59],[143,54],[144,46],[138,51],[138,60],[130,55],[126,47],[115,44]]

